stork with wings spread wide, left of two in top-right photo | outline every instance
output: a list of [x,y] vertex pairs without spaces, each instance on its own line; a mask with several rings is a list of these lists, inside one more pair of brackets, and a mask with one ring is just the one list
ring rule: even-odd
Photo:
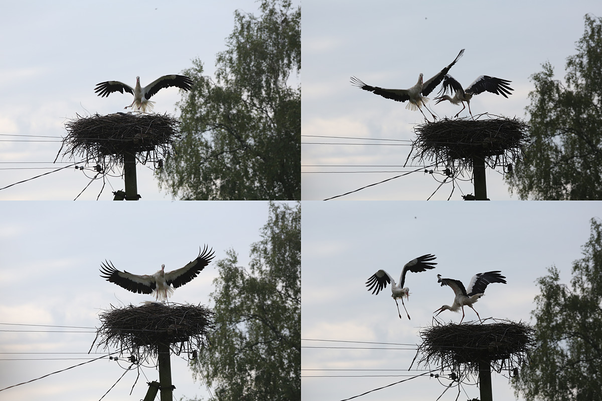
[[[452,62],[452,64],[450,64],[449,66],[442,69],[437,75],[433,76],[433,78],[430,78],[426,82],[423,82],[423,74],[420,73],[420,76],[418,76],[418,82],[416,83],[416,85],[414,85],[413,87],[411,87],[409,89],[385,89],[385,88],[379,88],[379,87],[371,87],[370,85],[364,84],[364,82],[362,82],[360,79],[356,78],[355,76],[351,77],[351,83],[353,85],[355,85],[356,87],[361,88],[365,91],[370,91],[374,94],[378,94],[382,97],[386,97],[386,99],[393,99],[393,100],[396,100],[397,102],[405,102],[406,100],[409,100],[409,103],[406,106],[406,109],[420,110],[422,115],[424,115],[424,112],[422,111],[422,106],[424,106],[424,108],[426,108],[426,102],[429,101],[429,98],[426,96],[428,96],[429,93],[431,93],[437,87],[437,85],[439,85],[441,83],[445,74],[447,74],[447,72],[450,70],[450,68],[452,68],[452,66],[454,64],[456,64],[456,62],[458,62],[458,60],[460,60],[460,58],[462,57],[463,54],[464,54],[464,49],[462,49],[459,52],[458,57],[456,57],[456,60],[454,60]],[[427,109],[427,110],[429,110],[429,109]],[[430,115],[433,116],[433,118],[436,118],[435,114],[433,114],[430,110],[429,110],[429,112],[430,112]],[[426,115],[424,115],[424,119],[426,120]]]

